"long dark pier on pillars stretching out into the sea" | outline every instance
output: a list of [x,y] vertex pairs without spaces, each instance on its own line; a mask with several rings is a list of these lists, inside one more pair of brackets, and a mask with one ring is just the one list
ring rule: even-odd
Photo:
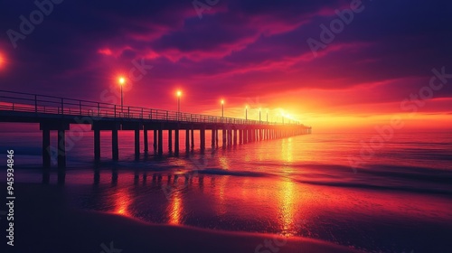
[[[59,98],[23,92],[0,90],[0,122],[36,123],[42,131],[42,165],[52,165],[57,156],[59,168],[66,167],[66,139],[71,125],[84,126],[94,132],[94,158],[100,159],[100,131],[112,136],[111,158],[119,159],[118,131],[135,132],[135,155],[149,152],[149,136],[155,155],[164,155],[164,132],[167,132],[170,154],[180,153],[180,133],[185,132],[185,151],[192,151],[199,142],[206,149],[206,135],[212,136],[212,148],[246,145],[248,143],[311,134],[312,127],[300,123],[275,123],[234,117],[215,117],[155,108],[118,106],[102,102]],[[58,132],[57,150],[51,149],[51,131]],[[195,140],[194,132],[199,132]],[[140,146],[143,137],[144,146]]]

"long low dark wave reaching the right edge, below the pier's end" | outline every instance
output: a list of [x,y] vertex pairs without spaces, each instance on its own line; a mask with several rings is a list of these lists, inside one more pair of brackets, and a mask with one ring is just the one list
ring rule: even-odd
[[281,164],[275,165],[278,168],[266,173],[220,168],[207,168],[197,173],[242,177],[274,176],[313,185],[452,195],[452,171],[449,170],[381,164],[359,168],[357,173],[353,173],[350,167],[344,165],[296,164],[291,165],[291,173],[287,173],[281,170]]

